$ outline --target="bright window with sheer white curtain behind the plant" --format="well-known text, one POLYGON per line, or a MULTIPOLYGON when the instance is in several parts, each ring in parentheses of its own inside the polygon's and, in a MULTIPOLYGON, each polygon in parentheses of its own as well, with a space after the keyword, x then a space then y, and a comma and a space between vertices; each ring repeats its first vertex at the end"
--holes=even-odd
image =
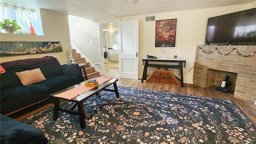
MULTIPOLYGON (((22 28, 17 30, 16 34, 30 34, 30 22, 36 35, 43 35, 41 20, 37 20, 36 12, 28 8, 22 8, 11 4, 0 3, 0 21, 9 18, 16 20, 16 23, 22 28), (40 22, 39 22, 40 21, 40 22)), ((39 14, 40 15, 40 14, 39 14)), ((40 18, 39 18, 40 19, 40 18)))

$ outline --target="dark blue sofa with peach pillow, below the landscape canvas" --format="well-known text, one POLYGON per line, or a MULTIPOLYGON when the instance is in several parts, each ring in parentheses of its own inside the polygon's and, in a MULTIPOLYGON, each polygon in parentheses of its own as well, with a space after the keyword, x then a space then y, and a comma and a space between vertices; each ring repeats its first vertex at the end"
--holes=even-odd
POLYGON ((60 65, 52 56, 15 60, 0 65, 6 71, 0 74, 1 114, 8 114, 45 100, 49 98, 49 94, 84 81, 78 64, 60 65), (38 81, 40 77, 46 79, 38 81), (30 79, 36 82, 30 82, 30 79))

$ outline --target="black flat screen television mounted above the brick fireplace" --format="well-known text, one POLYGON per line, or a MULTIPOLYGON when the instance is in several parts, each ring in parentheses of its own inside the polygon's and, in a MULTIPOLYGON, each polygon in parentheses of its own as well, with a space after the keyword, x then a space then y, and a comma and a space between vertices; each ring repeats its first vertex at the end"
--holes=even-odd
POLYGON ((208 18, 205 42, 256 42, 256 8, 208 18))

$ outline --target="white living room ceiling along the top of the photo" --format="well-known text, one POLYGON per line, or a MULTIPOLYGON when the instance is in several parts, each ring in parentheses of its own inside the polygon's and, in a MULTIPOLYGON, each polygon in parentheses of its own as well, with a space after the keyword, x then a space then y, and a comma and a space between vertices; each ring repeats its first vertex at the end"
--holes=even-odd
MULTIPOLYGON (((150 15, 238 4, 250 4, 255 0, 1 0, 25 8, 43 8, 88 20, 100 20, 123 16, 150 15)), ((107 26, 108 27, 108 26, 107 26)))

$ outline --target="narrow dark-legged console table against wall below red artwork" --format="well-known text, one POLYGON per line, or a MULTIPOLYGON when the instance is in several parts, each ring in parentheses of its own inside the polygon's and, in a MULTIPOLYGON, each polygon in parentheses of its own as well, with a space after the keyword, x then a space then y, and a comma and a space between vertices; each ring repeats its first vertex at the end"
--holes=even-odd
POLYGON ((180 69, 181 78, 178 78, 177 76, 176 76, 176 78, 178 80, 180 80, 181 86, 184 87, 184 83, 183 83, 183 62, 184 62, 184 66, 185 66, 185 64, 186 64, 185 59, 142 58, 142 65, 144 65, 144 70, 143 70, 143 75, 142 75, 141 82, 143 83, 144 80, 146 80, 146 78, 148 77, 147 76, 148 67, 166 68, 166 70, 168 70, 168 68, 178 68, 178 69, 180 69), (148 62, 162 62, 164 64, 149 64, 148 62), (175 63, 178 63, 178 65, 166 64, 166 62, 175 62, 175 63))

